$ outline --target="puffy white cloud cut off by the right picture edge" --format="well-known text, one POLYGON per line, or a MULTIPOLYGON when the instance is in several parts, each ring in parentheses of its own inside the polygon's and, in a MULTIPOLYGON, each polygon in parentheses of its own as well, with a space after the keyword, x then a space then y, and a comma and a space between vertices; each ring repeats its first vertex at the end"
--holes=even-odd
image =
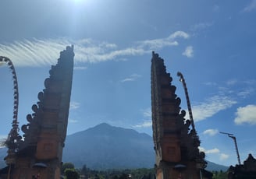
POLYGON ((247 105, 246 107, 238 107, 236 110, 236 125, 244 123, 256 125, 256 105, 247 105))

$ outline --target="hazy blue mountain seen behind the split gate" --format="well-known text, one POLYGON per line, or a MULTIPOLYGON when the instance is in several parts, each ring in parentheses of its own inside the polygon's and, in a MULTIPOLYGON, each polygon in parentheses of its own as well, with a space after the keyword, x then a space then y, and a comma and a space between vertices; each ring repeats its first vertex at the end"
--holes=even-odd
MULTIPOLYGON (((84 164, 91 169, 153 168, 155 151, 150 135, 133 129, 118 128, 106 123, 66 138, 63 162, 75 167, 84 164)), ((227 170, 227 167, 208 162, 208 170, 227 170)))

